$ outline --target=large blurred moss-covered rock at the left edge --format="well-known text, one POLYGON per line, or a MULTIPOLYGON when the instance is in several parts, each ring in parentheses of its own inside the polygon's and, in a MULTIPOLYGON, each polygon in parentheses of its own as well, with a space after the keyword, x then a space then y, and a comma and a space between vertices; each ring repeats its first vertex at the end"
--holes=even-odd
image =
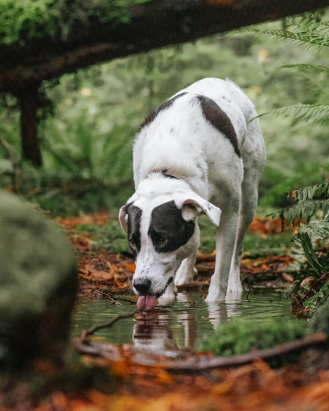
POLYGON ((0 227, 0 368, 59 360, 77 289, 72 247, 54 222, 1 191, 0 227))

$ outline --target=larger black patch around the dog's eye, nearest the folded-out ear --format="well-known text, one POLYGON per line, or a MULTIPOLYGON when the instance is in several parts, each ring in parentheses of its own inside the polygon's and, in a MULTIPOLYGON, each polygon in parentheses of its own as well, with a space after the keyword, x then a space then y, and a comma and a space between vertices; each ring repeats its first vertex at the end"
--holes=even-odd
POLYGON ((194 222, 185 221, 175 202, 168 201, 153 209, 148 236, 158 252, 172 252, 190 240, 194 229, 194 222), (165 245, 160 244, 162 238, 167 239, 165 245))

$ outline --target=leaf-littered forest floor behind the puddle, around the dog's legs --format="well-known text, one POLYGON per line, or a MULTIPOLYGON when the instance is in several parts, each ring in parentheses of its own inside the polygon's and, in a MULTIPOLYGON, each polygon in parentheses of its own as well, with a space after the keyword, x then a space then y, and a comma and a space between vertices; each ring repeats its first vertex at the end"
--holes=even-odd
MULTIPOLYGON (((69 217, 56 219, 67 231, 72 244, 79 253, 79 293, 77 301, 88 298, 94 290, 93 287, 104 293, 124 294, 134 301, 132 293, 132 275, 134 273, 134 256, 128 251, 125 233, 120 229, 116 219, 112 219, 107 212, 83 215, 81 217, 69 217), (111 223, 107 226, 108 223, 111 223), (113 230, 114 235, 109 233, 113 230), (110 241, 108 240, 110 237, 110 241), (113 243, 118 242, 114 246, 113 243), (118 249, 124 244, 124 249, 118 249), (114 252, 113 252, 114 251, 114 252)), ((271 236, 280 238, 280 219, 260 219, 256 217, 250 226, 254 236, 260 239, 270 239, 271 236)), ((285 242, 287 235, 283 235, 281 242, 285 242)), ((278 240, 276 239, 276 242, 278 240)), ((204 247, 205 248, 205 247, 204 247)), ((209 246, 206 246, 206 249, 209 246)), ((278 247, 262 252, 246 251, 241 261, 241 278, 243 285, 248 290, 249 286, 258 289, 289 289, 293 282, 292 275, 287 272, 287 267, 294 263, 295 259, 285 254, 284 248, 278 252, 278 247), (271 254, 272 251, 272 254, 271 254), (258 254, 258 255, 257 255, 258 254)), ((200 252, 197 255, 197 275, 191 284, 178 287, 178 291, 206 291, 213 270, 215 268, 215 252, 210 246, 208 253, 200 252)), ((98 298, 106 298, 100 294, 98 298)))

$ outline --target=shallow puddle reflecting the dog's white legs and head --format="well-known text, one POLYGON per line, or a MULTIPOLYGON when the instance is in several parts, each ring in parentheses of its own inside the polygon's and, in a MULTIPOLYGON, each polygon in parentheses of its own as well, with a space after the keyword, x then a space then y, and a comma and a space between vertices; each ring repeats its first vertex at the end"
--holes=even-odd
MULTIPOLYGON (((179 293, 176 301, 159 304, 153 311, 138 314, 137 318, 120 319, 110 328, 95 332, 95 337, 100 342, 115 344, 133 342, 138 350, 175 356, 181 349, 197 348, 214 328, 234 316, 241 316, 246 321, 264 322, 273 318, 297 321, 286 293, 254 290, 248 298, 212 304, 206 303, 204 297, 200 293, 179 293)), ((135 305, 114 307, 106 300, 80 303, 74 307, 72 336, 79 337, 82 330, 133 309, 135 305)))

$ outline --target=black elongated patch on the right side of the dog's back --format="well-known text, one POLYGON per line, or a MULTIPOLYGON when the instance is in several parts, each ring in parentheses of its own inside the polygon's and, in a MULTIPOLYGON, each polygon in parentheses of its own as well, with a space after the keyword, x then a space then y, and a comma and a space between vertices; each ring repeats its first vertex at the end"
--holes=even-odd
POLYGON ((218 104, 216 104, 212 99, 209 99, 203 95, 198 95, 197 99, 201 104, 204 118, 209 121, 216 130, 225 135, 225 137, 233 145, 236 155, 241 157, 236 132, 227 114, 222 111, 218 104))

